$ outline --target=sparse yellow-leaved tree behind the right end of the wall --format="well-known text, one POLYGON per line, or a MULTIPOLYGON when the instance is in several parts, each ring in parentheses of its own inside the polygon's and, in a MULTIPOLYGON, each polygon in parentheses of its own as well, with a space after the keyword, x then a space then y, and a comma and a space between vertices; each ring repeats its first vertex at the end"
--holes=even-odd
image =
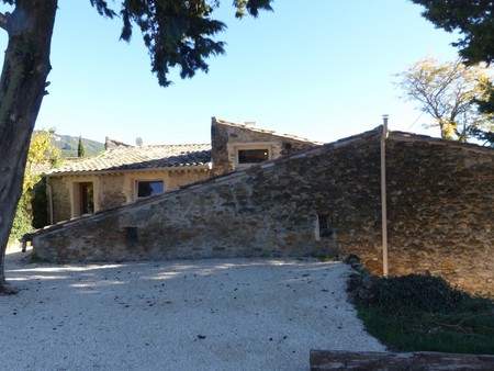
POLYGON ((467 66, 460 59, 440 64, 436 58, 416 61, 397 74, 404 99, 418 102, 446 139, 467 142, 478 131, 489 130, 492 115, 479 112, 475 100, 489 94, 491 80, 485 68, 467 66))

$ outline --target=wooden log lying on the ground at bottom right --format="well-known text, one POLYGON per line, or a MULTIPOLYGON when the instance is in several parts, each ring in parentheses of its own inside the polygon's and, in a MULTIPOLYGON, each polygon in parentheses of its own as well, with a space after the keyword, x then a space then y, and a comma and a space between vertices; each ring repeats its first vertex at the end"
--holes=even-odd
POLYGON ((311 350, 311 371, 494 370, 494 356, 429 351, 409 353, 311 350))

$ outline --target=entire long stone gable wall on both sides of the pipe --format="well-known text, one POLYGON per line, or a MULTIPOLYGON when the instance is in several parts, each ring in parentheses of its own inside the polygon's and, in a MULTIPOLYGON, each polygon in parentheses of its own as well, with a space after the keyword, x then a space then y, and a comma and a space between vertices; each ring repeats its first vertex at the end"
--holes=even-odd
MULTIPOLYGON (((52 261, 358 255, 382 272, 380 130, 34 236, 52 261)), ((494 150, 391 134, 391 274, 494 296, 494 150)))

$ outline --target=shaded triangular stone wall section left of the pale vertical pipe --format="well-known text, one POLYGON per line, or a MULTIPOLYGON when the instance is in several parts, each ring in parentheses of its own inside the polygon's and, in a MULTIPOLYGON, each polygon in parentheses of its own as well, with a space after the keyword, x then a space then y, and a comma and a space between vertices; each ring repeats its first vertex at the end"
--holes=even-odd
POLYGON ((59 262, 330 255, 357 243, 375 249, 378 195, 371 133, 59 225, 34 246, 59 262))

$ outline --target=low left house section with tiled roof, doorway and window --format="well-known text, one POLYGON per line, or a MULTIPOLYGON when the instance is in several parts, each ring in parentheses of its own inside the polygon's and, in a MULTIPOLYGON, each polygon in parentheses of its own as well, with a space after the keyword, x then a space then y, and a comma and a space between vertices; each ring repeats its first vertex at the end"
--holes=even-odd
POLYGON ((52 224, 210 177, 211 145, 119 146, 44 173, 52 224))

